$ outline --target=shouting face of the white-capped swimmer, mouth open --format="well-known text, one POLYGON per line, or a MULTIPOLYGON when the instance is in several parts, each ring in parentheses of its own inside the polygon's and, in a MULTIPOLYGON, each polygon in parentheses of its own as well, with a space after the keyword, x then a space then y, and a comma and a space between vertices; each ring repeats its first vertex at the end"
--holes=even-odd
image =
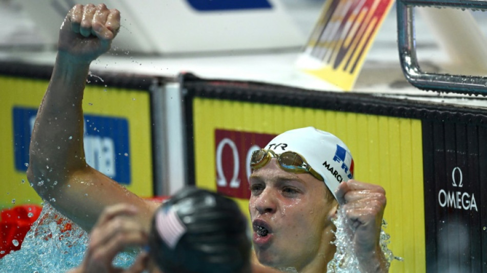
POLYGON ((286 172, 273 158, 250 176, 250 189, 253 243, 260 263, 299 271, 323 259, 327 247, 322 245, 330 246, 333 240, 330 218, 336 202, 322 181, 286 172))

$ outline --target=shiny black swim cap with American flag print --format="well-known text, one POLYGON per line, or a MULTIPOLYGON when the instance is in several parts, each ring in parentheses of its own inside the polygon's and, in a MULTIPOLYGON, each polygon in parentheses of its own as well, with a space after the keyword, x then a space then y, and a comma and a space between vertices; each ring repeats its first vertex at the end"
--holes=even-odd
POLYGON ((226 197, 184 188, 156 211, 150 255, 165 273, 239 273, 250 268, 247 220, 226 197))

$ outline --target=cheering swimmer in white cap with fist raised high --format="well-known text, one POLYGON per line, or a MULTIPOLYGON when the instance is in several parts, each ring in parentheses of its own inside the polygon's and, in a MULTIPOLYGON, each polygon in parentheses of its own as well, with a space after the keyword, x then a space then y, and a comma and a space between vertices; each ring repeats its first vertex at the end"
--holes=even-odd
MULTIPOLYGON (((82 100, 89 66, 110 49, 119 27, 118 10, 103 4, 76 5, 67 14, 51 81, 34 123, 27 176, 39 196, 55 198, 52 205, 85 230, 93 228, 106 207, 129 203, 138 212, 133 217, 149 233, 159 204, 87 165, 83 149, 82 100)), ((388 271, 379 247, 386 202, 383 188, 351 179, 351 155, 340 140, 322 139, 323 133, 316 130, 310 138, 302 134, 308 131, 297 132, 301 133, 279 135, 252 158, 249 211, 254 266, 326 272, 335 253, 331 219, 342 207, 362 271, 388 271), (348 165, 334 165, 338 162, 348 165)))

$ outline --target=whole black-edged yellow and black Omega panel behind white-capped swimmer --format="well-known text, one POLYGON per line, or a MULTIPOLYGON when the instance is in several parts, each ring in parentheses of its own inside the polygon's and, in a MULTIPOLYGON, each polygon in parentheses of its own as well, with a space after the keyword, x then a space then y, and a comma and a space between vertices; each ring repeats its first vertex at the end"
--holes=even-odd
POLYGON ((385 232, 404 259, 391 272, 487 269, 482 111, 192 75, 183 85, 190 184, 234 198, 248 215, 250 152, 314 126, 348 145, 357 180, 385 188, 385 232))

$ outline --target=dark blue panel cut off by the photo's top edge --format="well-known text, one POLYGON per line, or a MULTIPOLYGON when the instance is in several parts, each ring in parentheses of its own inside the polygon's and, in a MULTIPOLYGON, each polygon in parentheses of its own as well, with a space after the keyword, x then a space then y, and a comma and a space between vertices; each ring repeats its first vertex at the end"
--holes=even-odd
POLYGON ((187 0, 197 11, 272 9, 267 0, 187 0))

